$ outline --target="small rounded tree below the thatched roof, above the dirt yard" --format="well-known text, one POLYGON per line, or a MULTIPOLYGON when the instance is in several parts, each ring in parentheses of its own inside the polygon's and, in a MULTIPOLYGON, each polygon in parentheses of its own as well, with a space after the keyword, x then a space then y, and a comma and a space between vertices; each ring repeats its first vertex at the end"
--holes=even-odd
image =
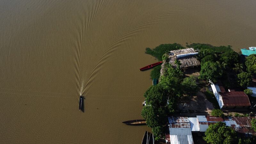
POLYGON ((187 94, 194 94, 197 92, 198 85, 196 84, 196 77, 190 76, 183 79, 181 83, 182 89, 187 94))

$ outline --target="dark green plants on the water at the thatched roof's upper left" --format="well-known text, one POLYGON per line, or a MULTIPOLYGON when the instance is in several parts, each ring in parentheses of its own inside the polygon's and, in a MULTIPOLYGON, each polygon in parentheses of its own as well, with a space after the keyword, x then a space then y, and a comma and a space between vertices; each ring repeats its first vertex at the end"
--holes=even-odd
POLYGON ((160 44, 154 49, 146 48, 146 53, 156 57, 159 61, 162 61, 162 56, 169 51, 184 49, 180 44, 160 44))

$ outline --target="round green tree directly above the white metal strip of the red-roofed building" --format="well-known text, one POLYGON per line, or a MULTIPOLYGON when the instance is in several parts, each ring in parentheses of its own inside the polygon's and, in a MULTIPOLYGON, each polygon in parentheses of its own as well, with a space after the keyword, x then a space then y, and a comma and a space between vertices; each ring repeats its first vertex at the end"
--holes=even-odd
POLYGON ((216 62, 207 61, 201 66, 199 78, 205 80, 211 80, 213 83, 217 82, 217 79, 222 75, 222 70, 216 62))

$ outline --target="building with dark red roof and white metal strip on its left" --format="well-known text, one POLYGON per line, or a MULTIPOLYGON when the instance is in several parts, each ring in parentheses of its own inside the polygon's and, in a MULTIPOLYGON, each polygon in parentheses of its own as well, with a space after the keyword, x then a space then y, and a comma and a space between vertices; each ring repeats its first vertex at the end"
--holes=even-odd
POLYGON ((250 108, 250 100, 244 92, 236 92, 233 90, 226 92, 222 86, 220 87, 218 84, 213 83, 211 87, 221 110, 237 111, 250 108))

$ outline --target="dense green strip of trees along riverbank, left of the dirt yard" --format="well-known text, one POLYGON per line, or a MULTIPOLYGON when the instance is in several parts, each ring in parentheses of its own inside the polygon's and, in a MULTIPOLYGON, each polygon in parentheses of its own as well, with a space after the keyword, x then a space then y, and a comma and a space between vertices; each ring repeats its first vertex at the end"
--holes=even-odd
POLYGON ((166 74, 160 77, 159 84, 150 86, 144 93, 147 105, 143 107, 141 115, 152 128, 155 140, 164 136, 163 127, 168 122, 167 115, 174 112, 175 101, 183 95, 182 79, 183 72, 179 64, 176 68, 170 66, 166 74))

